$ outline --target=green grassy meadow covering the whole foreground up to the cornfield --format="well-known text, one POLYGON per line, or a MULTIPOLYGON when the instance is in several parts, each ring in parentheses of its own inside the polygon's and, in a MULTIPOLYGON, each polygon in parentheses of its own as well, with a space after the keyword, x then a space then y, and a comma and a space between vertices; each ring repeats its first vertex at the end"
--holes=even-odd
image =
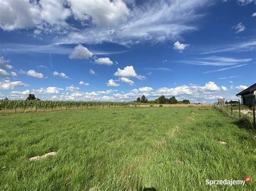
POLYGON ((215 109, 37 112, 0 122, 1 190, 255 190, 255 133, 215 109), (29 161, 48 152, 58 154, 29 161), (247 175, 245 187, 206 185, 247 175))

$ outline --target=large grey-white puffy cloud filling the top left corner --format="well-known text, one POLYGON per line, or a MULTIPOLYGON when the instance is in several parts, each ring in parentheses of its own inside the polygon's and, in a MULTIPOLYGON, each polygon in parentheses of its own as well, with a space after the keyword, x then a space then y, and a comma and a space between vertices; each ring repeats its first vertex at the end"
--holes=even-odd
POLYGON ((68 27, 65 22, 71 10, 65 8, 64 0, 2 0, 0 1, 0 27, 6 31, 35 28, 42 31, 59 31, 68 27))

